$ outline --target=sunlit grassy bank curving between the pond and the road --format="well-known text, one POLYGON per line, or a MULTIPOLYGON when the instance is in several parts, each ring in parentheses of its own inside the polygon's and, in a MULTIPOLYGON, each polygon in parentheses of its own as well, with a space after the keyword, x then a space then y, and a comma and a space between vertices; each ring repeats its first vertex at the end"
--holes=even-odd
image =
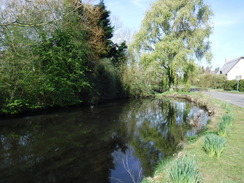
MULTIPOLYGON (((244 182, 244 109, 226 104, 220 100, 210 98, 199 93, 181 93, 172 94, 168 93, 170 97, 188 98, 200 105, 207 105, 208 110, 212 111, 211 121, 207 126, 207 131, 200 135, 196 141, 188 141, 185 148, 172 157, 171 160, 162 162, 156 168, 153 177, 145 178, 144 183, 162 183, 173 182, 172 170, 179 168, 179 166, 186 168, 187 171, 195 166, 197 170, 187 172, 191 175, 195 171, 195 175, 199 172, 200 182, 211 183, 231 183, 231 182, 244 182), (220 157, 210 157, 203 149, 203 144, 208 134, 218 134, 219 124, 223 121, 224 115, 233 115, 233 125, 228 126, 227 133, 224 138, 226 140, 225 147, 220 157), (179 165, 179 160, 184 160, 187 156, 195 162, 186 163, 187 166, 179 165), (190 168, 189 168, 190 167, 190 168)), ((159 95, 159 98, 166 97, 159 95)), ((185 160, 184 160, 185 161, 185 160)), ((197 175, 198 176, 198 175, 197 175)), ((194 176, 192 176, 194 177, 194 176)), ((184 182, 184 181, 180 181, 184 182)), ((187 181, 185 181, 187 182, 187 181)), ((197 182, 197 181, 190 181, 197 182)))

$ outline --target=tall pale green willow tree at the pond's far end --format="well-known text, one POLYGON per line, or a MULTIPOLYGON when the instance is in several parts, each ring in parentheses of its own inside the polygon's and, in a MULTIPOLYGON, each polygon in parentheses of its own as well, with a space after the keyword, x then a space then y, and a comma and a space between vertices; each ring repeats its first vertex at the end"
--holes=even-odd
POLYGON ((173 88, 187 79, 195 61, 211 60, 212 11, 203 0, 158 0, 146 13, 132 47, 143 67, 155 68, 173 88))

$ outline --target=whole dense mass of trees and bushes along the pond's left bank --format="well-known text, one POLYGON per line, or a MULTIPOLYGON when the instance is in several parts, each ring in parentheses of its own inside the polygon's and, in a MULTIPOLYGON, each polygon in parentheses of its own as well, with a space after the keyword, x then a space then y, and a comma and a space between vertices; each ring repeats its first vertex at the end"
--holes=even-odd
MULTIPOLYGON (((45 3, 13 4, 25 12, 19 15, 21 21, 31 23, 0 27, 1 112, 16 114, 122 96, 120 65, 127 46, 111 42, 113 27, 104 3, 52 1, 44 11, 45 3), (36 15, 50 22, 40 23, 36 15), (99 61, 102 53, 106 62, 99 61)), ((10 10, 9 16, 14 19, 18 13, 10 10)))

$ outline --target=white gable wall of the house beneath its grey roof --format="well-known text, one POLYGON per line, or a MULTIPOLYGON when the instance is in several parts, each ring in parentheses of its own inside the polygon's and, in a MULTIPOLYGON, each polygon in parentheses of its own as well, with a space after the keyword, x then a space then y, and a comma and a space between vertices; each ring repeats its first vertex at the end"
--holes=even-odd
POLYGON ((235 80, 236 76, 244 79, 244 59, 241 59, 227 74, 228 80, 235 80))

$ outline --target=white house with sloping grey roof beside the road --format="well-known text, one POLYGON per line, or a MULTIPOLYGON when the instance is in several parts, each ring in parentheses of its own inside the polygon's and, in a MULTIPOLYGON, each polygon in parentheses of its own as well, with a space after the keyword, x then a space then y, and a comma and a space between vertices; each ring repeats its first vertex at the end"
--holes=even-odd
POLYGON ((244 57, 225 61, 218 73, 226 75, 227 80, 244 79, 244 57))

